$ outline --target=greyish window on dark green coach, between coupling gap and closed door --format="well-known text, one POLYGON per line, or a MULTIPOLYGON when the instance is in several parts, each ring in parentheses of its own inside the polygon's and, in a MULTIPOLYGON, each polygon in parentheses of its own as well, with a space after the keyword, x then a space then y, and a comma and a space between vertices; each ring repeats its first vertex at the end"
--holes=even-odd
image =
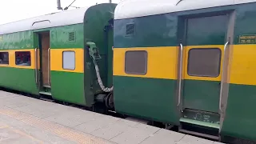
POLYGON ((126 74, 144 75, 147 71, 147 51, 126 51, 125 72, 126 74))

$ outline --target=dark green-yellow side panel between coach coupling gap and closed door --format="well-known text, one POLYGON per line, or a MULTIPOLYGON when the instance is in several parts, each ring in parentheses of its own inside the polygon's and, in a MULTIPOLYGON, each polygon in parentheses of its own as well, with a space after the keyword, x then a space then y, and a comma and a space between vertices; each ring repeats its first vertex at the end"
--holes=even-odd
POLYGON ((178 125, 178 18, 114 21, 114 105, 119 113, 178 125))

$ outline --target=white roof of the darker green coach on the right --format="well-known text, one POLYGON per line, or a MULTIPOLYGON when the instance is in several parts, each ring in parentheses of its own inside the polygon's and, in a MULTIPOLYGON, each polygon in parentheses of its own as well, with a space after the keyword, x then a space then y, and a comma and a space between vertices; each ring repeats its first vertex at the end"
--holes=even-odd
POLYGON ((114 19, 136 18, 249 2, 256 2, 256 0, 124 0, 116 7, 114 19))

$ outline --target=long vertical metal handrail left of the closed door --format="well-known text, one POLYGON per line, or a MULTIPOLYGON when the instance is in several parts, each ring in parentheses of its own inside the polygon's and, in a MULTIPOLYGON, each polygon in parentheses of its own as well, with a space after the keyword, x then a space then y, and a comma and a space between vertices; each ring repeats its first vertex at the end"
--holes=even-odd
POLYGON ((182 59, 183 59, 183 46, 182 43, 180 44, 180 48, 181 48, 181 54, 180 54, 180 58, 179 58, 179 82, 178 82, 178 105, 181 103, 181 94, 182 94, 182 59))

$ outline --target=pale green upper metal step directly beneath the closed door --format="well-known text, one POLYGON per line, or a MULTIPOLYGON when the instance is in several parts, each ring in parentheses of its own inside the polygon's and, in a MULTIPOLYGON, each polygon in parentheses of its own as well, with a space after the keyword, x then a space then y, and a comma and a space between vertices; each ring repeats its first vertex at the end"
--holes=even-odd
POLYGON ((190 123, 190 124, 197 125, 197 126, 205 126, 205 127, 210 127, 210 128, 214 128, 214 129, 220 129, 220 126, 217 123, 202 122, 202 121, 197 121, 197 120, 189 119, 189 118, 180 118, 179 121, 190 123))

